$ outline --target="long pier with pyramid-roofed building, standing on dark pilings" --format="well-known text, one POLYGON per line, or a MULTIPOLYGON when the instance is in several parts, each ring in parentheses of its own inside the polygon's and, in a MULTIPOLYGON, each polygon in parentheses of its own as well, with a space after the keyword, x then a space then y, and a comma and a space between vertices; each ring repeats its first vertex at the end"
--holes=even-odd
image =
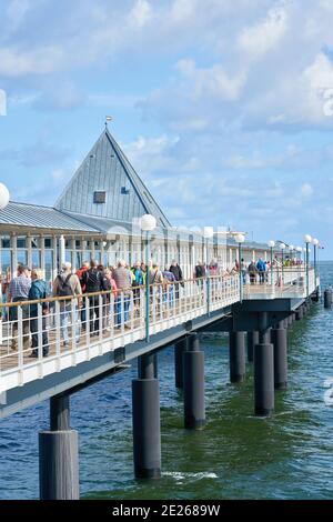
POLYGON ((274 414, 275 393, 287 389, 286 330, 319 300, 311 237, 304 250, 246 241, 223 228, 172 228, 108 128, 53 208, 7 203, 0 210, 0 263, 8 281, 20 265, 39 269, 50 288, 65 263, 75 272, 90 260, 113 269, 145 260, 147 269, 135 288, 0 303, 0 418, 50 402, 49 429, 39 432, 41 499, 80 495, 71 395, 135 363, 133 474, 160 478, 159 352, 174 347, 183 428, 204 430, 202 333, 229 334, 230 382, 241 385, 246 360, 253 363, 249 413, 274 414), (199 260, 202 275, 195 273, 199 260), (256 260, 264 270, 250 269, 256 260), (150 281, 154 264, 170 263, 181 267, 179 280, 150 281))

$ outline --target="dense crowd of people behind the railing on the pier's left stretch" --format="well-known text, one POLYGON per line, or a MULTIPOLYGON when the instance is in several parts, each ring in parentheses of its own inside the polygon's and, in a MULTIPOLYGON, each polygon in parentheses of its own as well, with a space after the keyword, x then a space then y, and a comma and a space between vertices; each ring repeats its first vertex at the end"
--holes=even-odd
POLYGON ((129 267, 125 261, 121 260, 117 267, 108 268, 91 260, 84 262, 75 272, 70 262, 64 262, 52 282, 52 288, 43 280, 41 270, 30 270, 28 267, 19 265, 17 275, 8 282, 4 289, 7 303, 23 303, 20 307, 22 332, 18 331, 18 307, 8 307, 8 319, 12 324, 11 348, 18 349, 19 333, 21 333, 23 349, 29 349, 31 340, 30 357, 37 358, 41 324, 42 353, 43 357, 49 354, 47 317, 50 309, 54 307, 54 301, 48 300, 51 297, 60 298, 60 332, 63 347, 69 345, 70 342, 69 323, 75 325, 77 342, 80 340, 81 329, 89 328, 91 335, 99 335, 101 322, 103 329, 110 328, 112 314, 115 329, 120 329, 122 324, 124 328, 130 328, 131 298, 134 308, 139 309, 141 288, 147 284, 147 278, 150 284, 150 299, 153 298, 153 289, 158 288, 159 299, 161 298, 168 307, 172 307, 174 299, 179 299, 180 287, 184 284, 182 269, 175 260, 172 260, 170 267, 165 267, 164 270, 160 270, 157 263, 147 267, 143 262, 137 262, 133 267, 129 267), (100 295, 102 295, 102 308, 100 295), (71 298, 77 298, 78 307, 72 307, 71 298), (87 307, 87 300, 89 307, 87 307), (24 301, 32 302, 24 305, 24 301), (41 314, 39 307, 41 307, 41 314))

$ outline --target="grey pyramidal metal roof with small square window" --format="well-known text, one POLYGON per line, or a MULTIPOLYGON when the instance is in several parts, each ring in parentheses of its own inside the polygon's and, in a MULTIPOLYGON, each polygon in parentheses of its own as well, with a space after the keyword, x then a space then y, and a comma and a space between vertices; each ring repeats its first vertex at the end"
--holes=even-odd
POLYGON ((54 207, 63 212, 119 221, 132 221, 149 213, 154 215, 159 227, 171 227, 108 128, 54 207))

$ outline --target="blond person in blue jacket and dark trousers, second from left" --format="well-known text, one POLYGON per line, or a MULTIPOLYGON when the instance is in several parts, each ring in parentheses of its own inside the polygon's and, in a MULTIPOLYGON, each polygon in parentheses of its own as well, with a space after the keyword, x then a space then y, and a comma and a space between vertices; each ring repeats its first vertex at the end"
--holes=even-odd
MULTIPOLYGON (((32 269, 31 271, 31 287, 29 290, 29 301, 36 301, 40 299, 47 299, 50 295, 50 288, 48 283, 43 280, 42 271, 39 269, 32 269)), ((38 303, 31 303, 29 305, 30 310, 30 332, 32 341, 32 352, 29 357, 38 358, 38 339, 39 339, 39 305, 38 303)), ((42 354, 47 357, 49 354, 49 339, 47 332, 47 314, 49 313, 49 303, 40 303, 41 309, 41 340, 42 340, 42 354)))

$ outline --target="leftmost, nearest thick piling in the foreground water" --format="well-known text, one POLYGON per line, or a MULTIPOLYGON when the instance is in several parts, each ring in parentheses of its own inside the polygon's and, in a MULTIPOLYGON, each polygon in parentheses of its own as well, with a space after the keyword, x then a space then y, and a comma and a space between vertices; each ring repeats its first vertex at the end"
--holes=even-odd
POLYGON ((70 429, 69 395, 50 400, 50 431, 39 433, 41 500, 78 500, 78 432, 70 429))

